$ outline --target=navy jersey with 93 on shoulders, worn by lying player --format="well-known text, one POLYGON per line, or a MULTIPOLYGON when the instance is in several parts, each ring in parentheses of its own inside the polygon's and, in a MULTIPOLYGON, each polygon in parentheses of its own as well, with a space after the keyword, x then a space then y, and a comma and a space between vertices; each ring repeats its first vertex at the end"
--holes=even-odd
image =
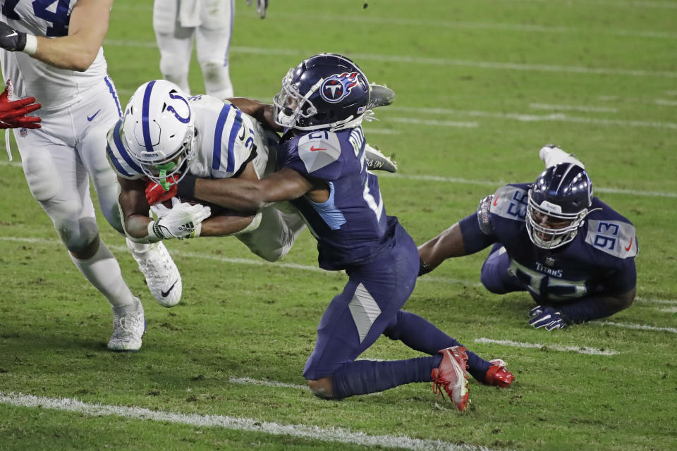
POLYGON ((525 226, 529 187, 522 183, 496 190, 488 222, 486 210, 485 216, 478 213, 474 221, 462 221, 464 241, 475 237, 484 245, 503 245, 511 271, 539 302, 617 294, 635 286, 638 244, 628 219, 593 197, 592 212, 574 240, 556 249, 541 249, 531 242, 525 226))

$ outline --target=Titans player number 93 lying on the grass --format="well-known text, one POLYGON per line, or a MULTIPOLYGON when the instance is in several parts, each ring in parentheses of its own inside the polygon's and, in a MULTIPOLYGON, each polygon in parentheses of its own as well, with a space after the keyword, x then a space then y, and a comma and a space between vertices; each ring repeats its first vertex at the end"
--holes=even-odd
POLYGON ((540 155, 549 167, 535 183, 499 188, 477 213, 421 245, 420 273, 493 245, 482 284, 496 294, 529 292, 537 303, 529 312, 535 328, 564 328, 630 307, 635 227, 592 196, 578 159, 551 144, 540 155))

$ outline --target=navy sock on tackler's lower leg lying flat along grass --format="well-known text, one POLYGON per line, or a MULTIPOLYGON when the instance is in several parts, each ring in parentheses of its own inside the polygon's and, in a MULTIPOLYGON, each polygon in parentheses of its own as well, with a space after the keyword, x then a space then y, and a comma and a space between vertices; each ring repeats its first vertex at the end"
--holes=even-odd
POLYGON ((374 362, 356 360, 343 364, 332 375, 335 399, 366 395, 412 382, 431 381, 430 373, 439 366, 442 355, 417 357, 416 359, 374 362))

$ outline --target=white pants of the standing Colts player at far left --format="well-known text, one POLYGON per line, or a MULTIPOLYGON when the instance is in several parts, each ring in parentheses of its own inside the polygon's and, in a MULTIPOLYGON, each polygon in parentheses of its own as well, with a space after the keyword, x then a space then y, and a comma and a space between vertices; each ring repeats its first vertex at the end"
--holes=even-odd
POLYGON ((98 235, 89 180, 106 220, 124 233, 116 176, 106 159, 106 133, 122 114, 109 77, 89 89, 87 100, 54 112, 39 111, 42 128, 15 129, 30 193, 47 212, 71 252, 98 235))

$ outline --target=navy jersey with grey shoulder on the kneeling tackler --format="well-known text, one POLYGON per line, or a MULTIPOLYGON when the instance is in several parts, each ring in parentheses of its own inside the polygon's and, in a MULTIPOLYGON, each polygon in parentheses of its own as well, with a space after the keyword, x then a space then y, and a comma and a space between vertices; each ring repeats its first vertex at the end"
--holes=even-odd
POLYGON ((317 239, 321 268, 364 264, 392 245, 397 218, 386 217, 378 178, 367 171, 362 127, 283 136, 278 164, 329 185, 327 202, 292 201, 317 239))

